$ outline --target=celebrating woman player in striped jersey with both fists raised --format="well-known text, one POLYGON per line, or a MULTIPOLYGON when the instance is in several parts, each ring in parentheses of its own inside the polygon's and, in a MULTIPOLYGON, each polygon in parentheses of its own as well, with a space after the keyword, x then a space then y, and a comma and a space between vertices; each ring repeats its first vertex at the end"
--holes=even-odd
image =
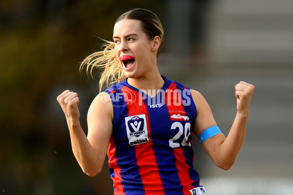
POLYGON ((115 22, 114 42, 84 59, 81 68, 89 73, 104 68, 100 91, 104 83, 113 84, 93 100, 87 136, 77 93, 66 90, 57 98, 82 170, 95 176, 107 155, 115 195, 202 195, 191 135, 224 170, 233 165, 244 141, 254 86, 235 85, 237 114, 226 138, 199 92, 160 75, 163 36, 154 13, 132 9, 115 22))

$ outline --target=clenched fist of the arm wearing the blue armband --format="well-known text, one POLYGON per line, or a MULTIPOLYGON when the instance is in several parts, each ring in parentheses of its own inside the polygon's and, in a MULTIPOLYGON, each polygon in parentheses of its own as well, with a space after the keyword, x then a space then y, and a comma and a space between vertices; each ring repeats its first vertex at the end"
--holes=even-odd
POLYGON ((237 111, 243 114, 249 114, 249 107, 251 103, 254 86, 240 81, 235 85, 235 96, 237 98, 237 111))

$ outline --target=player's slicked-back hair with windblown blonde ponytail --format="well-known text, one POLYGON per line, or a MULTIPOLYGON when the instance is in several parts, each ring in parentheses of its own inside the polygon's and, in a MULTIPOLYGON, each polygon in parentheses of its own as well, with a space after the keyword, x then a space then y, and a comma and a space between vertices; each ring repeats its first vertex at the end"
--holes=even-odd
MULTIPOLYGON (((124 19, 140 20, 142 29, 146 33, 148 39, 152 40, 154 37, 159 36, 162 42, 164 30, 160 19, 153 12, 142 8, 131 9, 119 16, 115 23, 124 19)), ((86 67, 86 74, 91 78, 93 78, 93 69, 104 69, 99 82, 100 92, 104 83, 106 83, 106 86, 108 87, 109 85, 121 82, 126 78, 122 64, 114 51, 115 43, 113 41, 104 41, 104 51, 95 52, 89 55, 84 59, 80 66, 80 71, 86 67)), ((157 57, 159 56, 159 53, 160 48, 157 57)))

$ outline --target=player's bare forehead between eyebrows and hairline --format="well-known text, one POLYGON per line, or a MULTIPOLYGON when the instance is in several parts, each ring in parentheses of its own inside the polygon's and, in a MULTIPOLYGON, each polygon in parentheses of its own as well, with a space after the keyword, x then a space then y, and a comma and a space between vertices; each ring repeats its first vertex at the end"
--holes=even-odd
POLYGON ((113 37, 122 37, 126 36, 127 34, 140 33, 142 33, 141 21, 124 19, 115 23, 113 37))

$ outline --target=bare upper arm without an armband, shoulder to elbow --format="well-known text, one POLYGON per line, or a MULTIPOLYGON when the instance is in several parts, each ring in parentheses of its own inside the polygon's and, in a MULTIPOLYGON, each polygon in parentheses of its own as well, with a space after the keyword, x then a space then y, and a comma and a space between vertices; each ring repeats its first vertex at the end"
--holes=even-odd
POLYGON ((112 134, 113 108, 105 104, 105 93, 99 94, 92 102, 87 115, 87 139, 99 156, 105 159, 112 134))

